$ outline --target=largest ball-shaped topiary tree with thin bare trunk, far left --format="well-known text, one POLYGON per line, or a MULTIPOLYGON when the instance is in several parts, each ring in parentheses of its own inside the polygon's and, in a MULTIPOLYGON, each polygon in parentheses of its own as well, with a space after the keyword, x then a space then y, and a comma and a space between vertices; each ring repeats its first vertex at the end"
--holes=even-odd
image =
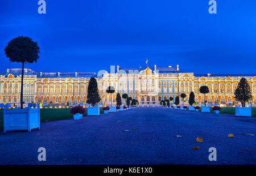
POLYGON ((32 41, 30 37, 19 36, 9 41, 5 48, 6 57, 11 62, 22 63, 22 80, 20 88, 20 109, 23 109, 23 77, 24 63, 33 63, 38 61, 40 49, 38 42, 32 41))

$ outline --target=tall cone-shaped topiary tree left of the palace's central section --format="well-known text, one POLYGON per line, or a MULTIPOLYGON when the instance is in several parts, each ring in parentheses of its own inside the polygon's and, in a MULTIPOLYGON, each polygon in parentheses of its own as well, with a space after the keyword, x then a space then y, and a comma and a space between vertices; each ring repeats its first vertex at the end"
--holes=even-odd
POLYGON ((87 100, 86 103, 95 106, 101 101, 100 95, 98 95, 98 84, 96 78, 90 78, 88 89, 87 89, 87 100))

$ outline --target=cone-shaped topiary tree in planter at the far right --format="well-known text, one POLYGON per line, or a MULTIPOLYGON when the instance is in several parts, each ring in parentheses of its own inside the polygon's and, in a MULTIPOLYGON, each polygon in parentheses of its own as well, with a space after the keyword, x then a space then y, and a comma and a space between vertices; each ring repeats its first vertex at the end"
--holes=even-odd
POLYGON ((242 106, 245 107, 246 101, 251 100, 250 84, 245 78, 241 78, 236 91, 234 92, 236 101, 240 101, 242 106))

